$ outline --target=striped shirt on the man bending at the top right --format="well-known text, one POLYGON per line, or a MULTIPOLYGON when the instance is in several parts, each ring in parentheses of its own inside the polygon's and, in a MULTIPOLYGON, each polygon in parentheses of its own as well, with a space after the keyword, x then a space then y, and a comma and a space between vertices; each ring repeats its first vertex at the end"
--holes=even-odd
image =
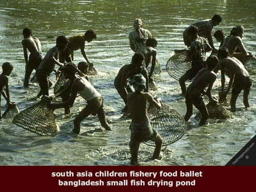
POLYGON ((202 21, 196 22, 196 23, 188 26, 184 30, 183 36, 188 37, 188 29, 193 25, 197 26, 197 28, 198 28, 198 36, 207 38, 210 46, 212 47, 212 49, 214 49, 214 44, 213 44, 213 40, 212 40, 212 28, 214 27, 214 25, 213 25, 212 20, 206 19, 206 20, 202 20, 202 21))

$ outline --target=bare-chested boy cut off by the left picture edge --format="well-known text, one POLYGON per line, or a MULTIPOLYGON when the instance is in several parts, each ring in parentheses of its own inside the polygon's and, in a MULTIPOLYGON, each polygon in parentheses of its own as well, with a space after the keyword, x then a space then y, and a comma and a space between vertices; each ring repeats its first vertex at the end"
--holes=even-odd
MULTIPOLYGON (((9 86, 8 86, 8 81, 9 78, 8 76, 11 74, 13 70, 12 64, 5 62, 2 64, 2 73, 0 74, 0 91, 3 97, 5 98, 8 108, 12 105, 12 102, 10 101, 10 93, 9 93, 9 86), (5 91, 4 91, 5 87, 5 91)), ((0 95, 0 119, 2 119, 2 113, 1 113, 1 95, 0 95)))

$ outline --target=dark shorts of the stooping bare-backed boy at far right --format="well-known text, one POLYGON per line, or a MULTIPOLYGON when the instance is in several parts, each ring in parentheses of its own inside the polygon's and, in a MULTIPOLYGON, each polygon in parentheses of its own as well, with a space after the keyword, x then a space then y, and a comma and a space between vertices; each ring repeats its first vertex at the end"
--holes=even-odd
POLYGON ((250 77, 243 76, 241 74, 235 74, 234 82, 233 82, 233 88, 232 88, 232 94, 238 95, 242 90, 244 92, 250 92, 252 87, 252 80, 250 77))

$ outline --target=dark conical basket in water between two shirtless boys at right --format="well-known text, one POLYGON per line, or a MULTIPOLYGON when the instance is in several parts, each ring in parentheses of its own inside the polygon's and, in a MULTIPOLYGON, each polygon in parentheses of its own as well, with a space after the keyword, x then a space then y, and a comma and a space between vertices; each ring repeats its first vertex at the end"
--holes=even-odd
MULTIPOLYGON (((207 120, 209 123, 221 123, 232 117, 231 113, 220 104, 213 104, 212 102, 209 102, 206 105, 206 108, 209 113, 209 118, 207 120)), ((195 119, 200 121, 201 118, 202 115, 200 112, 198 112, 195 116, 195 119)))

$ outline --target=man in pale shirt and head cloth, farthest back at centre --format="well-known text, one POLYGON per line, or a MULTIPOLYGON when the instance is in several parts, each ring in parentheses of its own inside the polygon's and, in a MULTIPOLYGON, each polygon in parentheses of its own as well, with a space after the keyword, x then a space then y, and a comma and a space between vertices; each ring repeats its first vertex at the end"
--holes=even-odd
POLYGON ((135 30, 133 30, 129 34, 129 43, 130 43, 130 48, 134 52, 136 52, 139 47, 146 46, 146 40, 148 38, 151 38, 152 35, 149 30, 141 28, 142 27, 141 19, 135 19, 133 22, 133 26, 135 30))

